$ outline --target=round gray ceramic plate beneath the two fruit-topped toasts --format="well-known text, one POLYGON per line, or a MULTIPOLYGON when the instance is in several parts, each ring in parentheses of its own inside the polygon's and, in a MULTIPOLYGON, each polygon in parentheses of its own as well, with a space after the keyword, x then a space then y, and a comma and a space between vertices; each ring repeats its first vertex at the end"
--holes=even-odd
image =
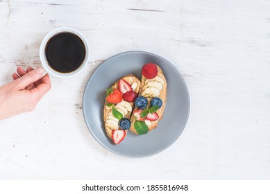
POLYGON ((168 148, 183 132, 189 116, 189 94, 185 80, 170 62, 153 53, 120 53, 101 64, 92 74, 83 96, 83 115, 90 132, 104 148, 125 157, 148 157, 168 148), (126 139, 115 145, 103 123, 106 89, 122 76, 133 73, 139 79, 144 64, 158 64, 167 79, 167 106, 158 127, 148 134, 128 131, 126 139))

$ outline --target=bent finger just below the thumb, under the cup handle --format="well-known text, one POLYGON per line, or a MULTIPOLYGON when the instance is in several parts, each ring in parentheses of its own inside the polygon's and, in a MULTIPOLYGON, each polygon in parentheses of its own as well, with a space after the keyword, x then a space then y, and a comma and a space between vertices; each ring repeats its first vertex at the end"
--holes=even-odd
POLYGON ((46 73, 46 75, 39 80, 39 85, 31 89, 31 92, 42 98, 42 96, 44 96, 44 94, 46 94, 50 89, 51 89, 51 80, 49 78, 49 74, 46 73))

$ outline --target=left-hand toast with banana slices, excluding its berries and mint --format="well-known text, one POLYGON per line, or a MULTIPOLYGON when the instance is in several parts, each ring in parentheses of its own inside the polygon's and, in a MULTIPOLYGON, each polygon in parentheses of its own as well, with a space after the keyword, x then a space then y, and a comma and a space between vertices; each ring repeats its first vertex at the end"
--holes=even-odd
MULTIPOLYGON (((141 89, 141 82, 136 76, 134 76, 133 74, 129 74, 127 76, 120 78, 119 80, 117 80, 117 82, 115 82, 112 85, 112 89, 119 89, 118 87, 119 87, 120 80, 125 80, 126 82, 128 82, 130 86, 132 87, 133 91, 135 91, 137 94, 139 93, 141 89)), ((114 115, 112 114, 112 107, 108 107, 108 104, 109 102, 108 100, 106 100, 104 104, 104 108, 103 108, 103 120, 104 120, 106 133, 108 134, 110 139, 112 139, 112 131, 120 130, 119 125, 118 125, 119 120, 114 117, 114 115)), ((121 103, 117 103, 115 105, 115 109, 121 112, 124 115, 124 117, 128 119, 130 119, 130 116, 133 112, 133 108, 134 108, 134 103, 128 103, 125 100, 122 100, 121 103)), ((127 130, 126 130, 126 134, 127 134, 127 130)))

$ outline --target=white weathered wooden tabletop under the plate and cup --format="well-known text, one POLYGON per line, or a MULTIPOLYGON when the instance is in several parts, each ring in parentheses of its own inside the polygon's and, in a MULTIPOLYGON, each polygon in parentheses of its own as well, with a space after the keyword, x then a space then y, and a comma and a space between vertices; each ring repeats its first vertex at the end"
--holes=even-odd
POLYGON ((270 1, 0 0, 0 85, 40 67, 42 38, 61 26, 85 35, 90 62, 0 121, 0 179, 270 179, 270 1), (174 64, 191 98, 180 138, 142 159, 99 145, 82 110, 94 69, 132 50, 174 64))

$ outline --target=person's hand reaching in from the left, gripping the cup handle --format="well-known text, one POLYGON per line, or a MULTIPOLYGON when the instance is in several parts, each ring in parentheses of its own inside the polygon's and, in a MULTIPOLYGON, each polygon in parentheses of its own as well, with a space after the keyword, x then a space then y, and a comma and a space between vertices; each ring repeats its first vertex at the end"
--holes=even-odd
POLYGON ((17 68, 17 73, 12 74, 14 81, 0 87, 0 120, 35 109, 51 89, 49 75, 42 77, 43 73, 44 69, 40 67, 28 67, 26 71, 22 67, 17 68))

